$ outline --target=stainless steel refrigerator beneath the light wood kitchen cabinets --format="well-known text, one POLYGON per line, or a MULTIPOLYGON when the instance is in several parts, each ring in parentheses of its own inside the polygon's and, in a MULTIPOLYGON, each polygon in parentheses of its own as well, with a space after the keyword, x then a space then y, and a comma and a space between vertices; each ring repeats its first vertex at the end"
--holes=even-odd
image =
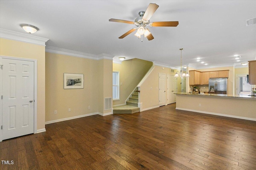
POLYGON ((210 78, 209 93, 227 94, 228 78, 210 78))

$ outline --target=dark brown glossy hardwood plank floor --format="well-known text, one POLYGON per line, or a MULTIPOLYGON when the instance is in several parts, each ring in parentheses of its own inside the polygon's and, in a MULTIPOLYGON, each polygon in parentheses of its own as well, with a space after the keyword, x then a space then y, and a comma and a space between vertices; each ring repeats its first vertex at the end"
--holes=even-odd
POLYGON ((255 121, 175 107, 46 125, 46 132, 0 142, 0 160, 9 160, 0 169, 256 169, 255 121))

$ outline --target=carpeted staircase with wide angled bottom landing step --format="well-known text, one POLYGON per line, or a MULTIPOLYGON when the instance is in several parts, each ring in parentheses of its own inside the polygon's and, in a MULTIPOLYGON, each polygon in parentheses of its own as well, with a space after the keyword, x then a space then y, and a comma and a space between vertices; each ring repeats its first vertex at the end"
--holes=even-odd
POLYGON ((140 112, 140 108, 138 107, 138 87, 132 94, 132 97, 129 97, 129 101, 126 101, 126 105, 113 107, 113 114, 132 114, 140 112))

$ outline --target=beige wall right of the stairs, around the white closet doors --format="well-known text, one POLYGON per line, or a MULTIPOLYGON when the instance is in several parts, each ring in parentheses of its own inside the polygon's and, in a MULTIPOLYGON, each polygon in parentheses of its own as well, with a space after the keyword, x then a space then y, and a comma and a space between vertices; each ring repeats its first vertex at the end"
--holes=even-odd
MULTIPOLYGON (((171 69, 167 67, 155 66, 148 78, 142 83, 140 86, 140 102, 142 103, 142 110, 154 108, 159 106, 159 73, 163 73, 167 75, 173 75, 176 73, 176 69, 174 73, 171 73, 171 69), (163 69, 164 68, 164 69, 163 69), (152 90, 151 90, 152 87, 152 90)), ((181 78, 178 77, 177 87, 178 92, 181 91, 181 78)), ((167 81, 166 85, 167 87, 167 81)), ((166 99, 167 101, 167 94, 166 99)))

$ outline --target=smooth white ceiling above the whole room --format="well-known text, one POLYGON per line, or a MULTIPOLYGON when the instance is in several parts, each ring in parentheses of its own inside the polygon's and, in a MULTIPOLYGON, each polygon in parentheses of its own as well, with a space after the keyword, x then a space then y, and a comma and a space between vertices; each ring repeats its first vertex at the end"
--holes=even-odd
MULTIPOLYGON (((256 57, 255 0, 1 0, 0 28, 25 33, 20 24, 40 30, 33 34, 50 39, 47 46, 126 59, 140 58, 180 67, 195 68, 234 65, 256 57), (150 22, 178 21, 177 27, 150 27, 154 40, 134 34, 118 39, 134 25, 109 22, 110 18, 134 21, 138 12, 156 3, 150 22), (236 62, 233 55, 241 55, 236 62), (208 65, 196 61, 201 61, 208 65)), ((135 33, 135 32, 134 32, 135 33)))

